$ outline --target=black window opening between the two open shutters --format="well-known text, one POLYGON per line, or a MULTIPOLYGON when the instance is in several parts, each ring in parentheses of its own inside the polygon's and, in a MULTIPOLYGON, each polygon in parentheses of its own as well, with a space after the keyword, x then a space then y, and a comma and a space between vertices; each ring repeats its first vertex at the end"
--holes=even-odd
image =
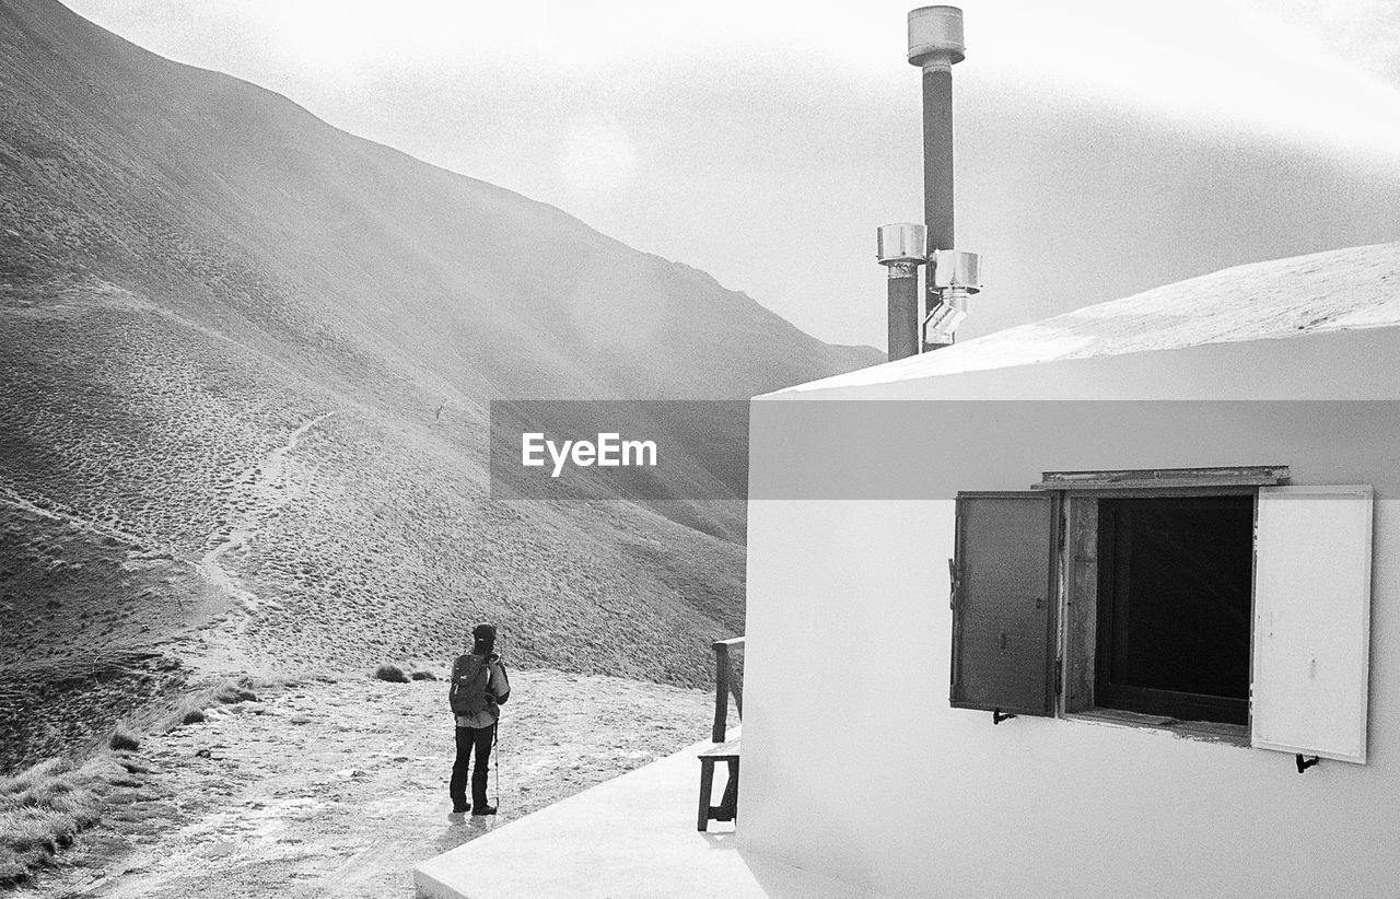
POLYGON ((1249 717, 1253 496, 1099 500, 1095 704, 1249 717))

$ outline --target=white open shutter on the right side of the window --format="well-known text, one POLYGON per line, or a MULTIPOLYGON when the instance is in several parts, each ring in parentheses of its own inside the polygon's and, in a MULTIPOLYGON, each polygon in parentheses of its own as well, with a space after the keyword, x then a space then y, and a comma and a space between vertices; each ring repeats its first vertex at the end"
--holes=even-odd
POLYGON ((1250 742, 1365 763, 1372 490, 1261 487, 1250 742))

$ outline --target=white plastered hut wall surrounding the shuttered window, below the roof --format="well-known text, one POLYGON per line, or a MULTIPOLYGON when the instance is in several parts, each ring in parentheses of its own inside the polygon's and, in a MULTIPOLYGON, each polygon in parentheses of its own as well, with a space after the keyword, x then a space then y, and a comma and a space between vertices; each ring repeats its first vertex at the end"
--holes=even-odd
MULTIPOLYGON (((1400 398, 1396 358, 1400 329, 1386 329, 795 398, 1400 398)), ((902 420, 883 447, 837 424, 794 451, 764 427, 766 407, 792 398, 755 402, 755 496, 805 457, 934 499, 750 501, 742 846, 890 895, 1400 892, 1400 420, 1218 423, 1141 440, 1081 431, 1008 447, 902 420), (910 441, 942 459, 946 479, 921 476, 910 441), (1228 450, 1211 457, 1212 445, 1228 450), (948 706, 948 485, 1023 490, 1042 471, 1225 464, 1376 486, 1365 766, 1324 760, 1299 776, 1284 753, 1058 718, 994 727, 988 713, 948 706)))

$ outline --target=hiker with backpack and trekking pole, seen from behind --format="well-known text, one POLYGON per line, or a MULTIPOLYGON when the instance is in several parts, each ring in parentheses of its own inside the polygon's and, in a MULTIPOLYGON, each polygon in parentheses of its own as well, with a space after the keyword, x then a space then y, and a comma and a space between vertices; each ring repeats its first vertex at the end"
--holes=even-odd
POLYGON ((456 760, 452 762, 452 780, 448 784, 452 814, 496 814, 496 807, 486 801, 486 784, 496 725, 501 718, 500 706, 510 696, 511 682, 496 653, 496 627, 477 625, 472 629, 472 651, 458 657, 452 665, 452 686, 448 688, 448 702, 456 720, 456 760), (468 770, 472 774, 470 805, 466 802, 468 770))

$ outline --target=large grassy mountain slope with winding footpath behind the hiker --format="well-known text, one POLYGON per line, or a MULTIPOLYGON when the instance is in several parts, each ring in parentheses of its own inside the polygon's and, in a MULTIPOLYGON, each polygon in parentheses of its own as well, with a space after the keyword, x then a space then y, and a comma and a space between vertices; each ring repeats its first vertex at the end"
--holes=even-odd
POLYGON ((53 0, 0 4, 0 767, 197 672, 442 660, 480 619, 525 667, 703 683, 742 504, 493 503, 487 402, 881 358, 53 0))

